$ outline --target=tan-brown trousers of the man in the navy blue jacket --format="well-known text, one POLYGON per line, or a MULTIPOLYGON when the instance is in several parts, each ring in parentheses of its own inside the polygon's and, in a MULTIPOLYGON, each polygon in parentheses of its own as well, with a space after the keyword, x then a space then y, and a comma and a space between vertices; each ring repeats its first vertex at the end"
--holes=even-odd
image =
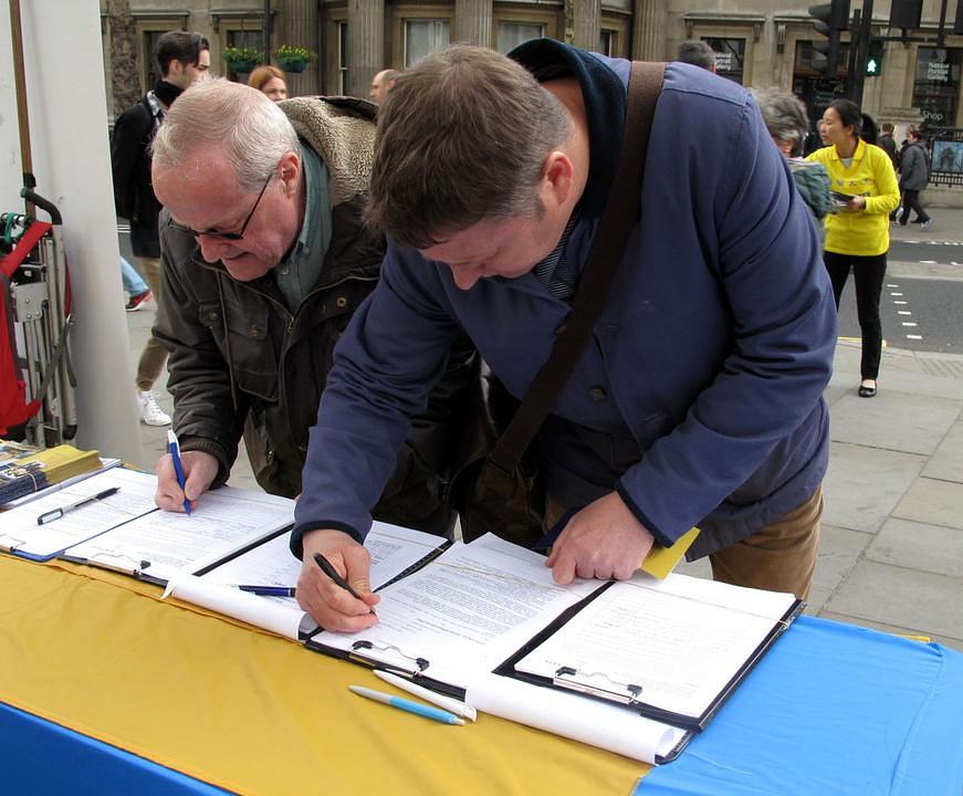
MULTIPOLYGON (((546 532, 565 513, 565 506, 548 498, 545 506, 546 532)), ((799 599, 809 596, 816 554, 819 548, 819 519, 823 516, 823 488, 803 505, 709 556, 712 578, 734 586, 768 591, 788 591, 799 599)))

